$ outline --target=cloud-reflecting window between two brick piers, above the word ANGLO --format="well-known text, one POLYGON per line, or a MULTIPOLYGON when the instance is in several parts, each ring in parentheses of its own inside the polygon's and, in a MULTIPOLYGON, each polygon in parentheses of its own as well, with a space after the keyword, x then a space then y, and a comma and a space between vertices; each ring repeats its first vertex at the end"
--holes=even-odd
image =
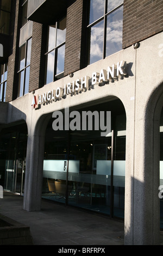
POLYGON ((64 75, 66 17, 48 27, 45 84, 64 75))

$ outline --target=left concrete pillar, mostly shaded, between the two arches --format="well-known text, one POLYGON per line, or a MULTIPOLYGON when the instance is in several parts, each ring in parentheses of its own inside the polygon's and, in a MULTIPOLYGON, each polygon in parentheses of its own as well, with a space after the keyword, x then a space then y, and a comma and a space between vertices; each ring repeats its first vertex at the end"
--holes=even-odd
POLYGON ((41 209, 45 131, 48 120, 40 118, 35 124, 31 122, 32 127, 29 129, 23 200, 23 209, 26 211, 41 209))

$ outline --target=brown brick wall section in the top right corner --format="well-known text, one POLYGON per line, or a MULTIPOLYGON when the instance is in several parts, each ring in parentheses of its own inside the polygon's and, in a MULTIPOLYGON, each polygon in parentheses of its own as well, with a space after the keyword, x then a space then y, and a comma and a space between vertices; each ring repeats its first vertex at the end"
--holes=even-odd
POLYGON ((162 30, 162 0, 124 0, 123 48, 162 30))

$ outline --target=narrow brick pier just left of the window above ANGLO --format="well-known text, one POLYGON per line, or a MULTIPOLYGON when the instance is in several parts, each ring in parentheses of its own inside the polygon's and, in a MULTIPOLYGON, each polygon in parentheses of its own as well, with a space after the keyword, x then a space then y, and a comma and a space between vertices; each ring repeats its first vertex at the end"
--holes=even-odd
MULTIPOLYGON (((43 86, 44 69, 44 54, 42 44, 46 45, 42 38, 42 25, 33 22, 32 34, 32 49, 30 58, 30 77, 29 77, 29 92, 36 90, 43 86)), ((46 36, 44 36, 46 38, 46 36)), ((44 52, 45 53, 45 52, 44 52)))

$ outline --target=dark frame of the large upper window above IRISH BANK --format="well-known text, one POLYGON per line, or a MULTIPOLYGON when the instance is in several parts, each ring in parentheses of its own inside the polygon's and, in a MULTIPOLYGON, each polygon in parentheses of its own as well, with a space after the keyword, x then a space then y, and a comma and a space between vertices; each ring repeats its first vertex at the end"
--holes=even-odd
MULTIPOLYGON (((107 18, 109 15, 114 13, 116 10, 120 9, 123 6, 122 4, 119 4, 114 9, 108 11, 108 0, 104 0, 104 14, 103 16, 99 17, 97 20, 93 21, 89 24, 89 17, 90 17, 90 1, 88 2, 88 15, 87 15, 87 38, 89 38, 88 45, 87 45, 87 65, 91 65, 93 63, 90 63, 90 49, 91 49, 91 28, 95 25, 97 25, 99 22, 104 21, 104 31, 103 31, 103 56, 102 59, 105 59, 106 56, 106 29, 107 29, 107 18)), ((124 2, 124 1, 123 1, 124 2)), ((98 61, 98 60, 97 60, 98 61)))

